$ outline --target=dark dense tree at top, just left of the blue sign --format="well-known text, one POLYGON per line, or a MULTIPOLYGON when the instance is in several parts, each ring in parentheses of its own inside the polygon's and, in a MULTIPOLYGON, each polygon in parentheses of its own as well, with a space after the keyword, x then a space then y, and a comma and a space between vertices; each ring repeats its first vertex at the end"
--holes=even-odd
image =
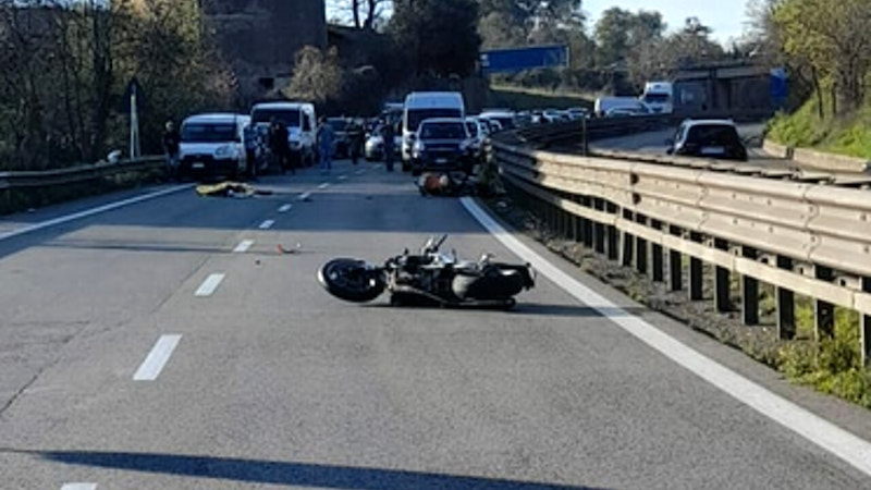
POLYGON ((416 75, 466 76, 478 61, 474 0, 396 0, 389 29, 416 75))

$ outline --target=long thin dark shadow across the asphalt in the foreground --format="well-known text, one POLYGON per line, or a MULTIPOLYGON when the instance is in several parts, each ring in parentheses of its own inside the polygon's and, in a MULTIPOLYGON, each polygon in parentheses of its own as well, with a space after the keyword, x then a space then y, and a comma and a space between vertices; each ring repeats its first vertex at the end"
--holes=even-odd
POLYGON ((69 465, 298 487, 347 490, 494 489, 594 490, 591 487, 514 481, 401 469, 363 468, 310 463, 236 460, 180 454, 51 451, 41 458, 69 465))

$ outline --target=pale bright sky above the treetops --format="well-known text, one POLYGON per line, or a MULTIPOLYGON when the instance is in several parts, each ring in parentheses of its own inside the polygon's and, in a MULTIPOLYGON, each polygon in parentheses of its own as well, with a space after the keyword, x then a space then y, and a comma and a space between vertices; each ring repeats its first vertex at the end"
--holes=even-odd
MULTIPOLYGON (((328 19, 335 15, 331 3, 336 3, 336 0, 327 1, 328 19)), ((699 17, 702 24, 713 29, 712 37, 721 44, 727 44, 729 38, 739 37, 747 21, 745 15, 747 0, 582 0, 581 3, 582 10, 589 16, 587 26, 590 30, 602 12, 612 7, 633 12, 659 11, 670 30, 679 29, 687 17, 699 17)))

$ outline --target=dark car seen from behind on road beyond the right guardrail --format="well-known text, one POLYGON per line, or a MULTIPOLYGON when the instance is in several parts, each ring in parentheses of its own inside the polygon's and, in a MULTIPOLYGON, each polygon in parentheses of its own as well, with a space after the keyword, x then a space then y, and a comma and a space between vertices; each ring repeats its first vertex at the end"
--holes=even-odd
POLYGON ((668 155, 747 161, 747 147, 728 120, 687 120, 666 142, 668 155))

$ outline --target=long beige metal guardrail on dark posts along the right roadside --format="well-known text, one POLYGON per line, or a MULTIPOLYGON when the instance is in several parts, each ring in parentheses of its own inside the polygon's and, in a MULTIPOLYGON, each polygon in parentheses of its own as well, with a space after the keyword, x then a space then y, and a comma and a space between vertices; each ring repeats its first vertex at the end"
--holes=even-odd
POLYGON ((505 183, 545 204, 557 232, 654 281, 665 281, 667 262, 674 291, 684 289, 688 256, 692 299, 702 298, 702 264, 712 264, 720 311, 732 309, 729 273, 740 274, 746 324, 759 322, 759 282, 772 284, 784 339, 796 333, 795 294, 815 301, 818 338, 833 334, 834 305, 857 310, 871 359, 871 192, 704 160, 584 157, 498 140, 492 149, 505 183))

